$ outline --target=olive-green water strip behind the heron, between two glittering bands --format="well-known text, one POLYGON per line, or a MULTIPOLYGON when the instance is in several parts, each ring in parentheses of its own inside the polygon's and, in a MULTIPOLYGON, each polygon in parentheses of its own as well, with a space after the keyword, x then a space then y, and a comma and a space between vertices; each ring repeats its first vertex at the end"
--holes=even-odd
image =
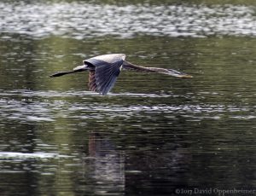
POLYGON ((0 82, 2 89, 86 90, 86 73, 56 79, 48 76, 55 71, 73 69, 94 55, 125 53, 127 60, 135 64, 173 68, 188 72, 194 78, 180 80, 158 74, 122 72, 113 92, 183 90, 194 94, 223 93, 230 96, 229 99, 241 94, 238 100, 248 99, 255 83, 254 44, 255 39, 248 37, 2 40, 0 82), (156 85, 161 83, 164 85, 156 85))

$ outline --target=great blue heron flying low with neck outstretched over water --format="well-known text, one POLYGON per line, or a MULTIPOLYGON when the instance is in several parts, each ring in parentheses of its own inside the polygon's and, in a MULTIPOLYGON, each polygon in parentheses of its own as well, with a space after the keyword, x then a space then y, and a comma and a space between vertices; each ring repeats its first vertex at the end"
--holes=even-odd
POLYGON ((124 54, 99 55, 83 62, 83 66, 77 66, 73 68, 73 71, 56 72, 50 77, 59 77, 73 72, 89 71, 89 89, 99 92, 102 95, 108 94, 113 88, 113 84, 122 68, 140 72, 159 72, 177 78, 192 78, 192 76, 186 73, 177 72, 173 69, 136 66, 131 62, 125 61, 124 54))

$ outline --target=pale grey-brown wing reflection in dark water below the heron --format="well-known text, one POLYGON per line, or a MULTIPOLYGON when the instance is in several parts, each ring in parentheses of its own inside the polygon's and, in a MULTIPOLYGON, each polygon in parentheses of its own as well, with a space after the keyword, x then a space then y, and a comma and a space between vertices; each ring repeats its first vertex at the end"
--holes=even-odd
POLYGON ((108 137, 90 133, 84 174, 89 174, 95 182, 96 193, 124 193, 124 165, 124 155, 115 149, 108 137))

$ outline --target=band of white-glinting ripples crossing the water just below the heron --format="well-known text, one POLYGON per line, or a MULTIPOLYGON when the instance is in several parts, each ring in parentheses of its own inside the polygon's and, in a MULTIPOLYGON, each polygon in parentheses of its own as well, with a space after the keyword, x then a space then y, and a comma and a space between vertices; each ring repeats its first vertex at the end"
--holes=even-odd
MULTIPOLYGON (((25 122, 54 122, 56 118, 76 118, 76 119, 114 119, 114 118, 152 118, 154 114, 161 113, 166 118, 189 118, 200 121, 204 118, 239 118, 243 120, 256 118, 255 112, 248 106, 236 106, 232 104, 203 104, 191 102, 189 104, 127 104, 126 106, 113 102, 91 102, 96 94, 86 94, 86 92, 57 92, 57 91, 29 91, 29 90, 10 90, 0 92, 4 95, 0 99, 0 118, 10 120, 21 120, 25 122), (17 97, 17 99, 14 99, 17 97), (21 98, 20 98, 21 97, 21 98), (60 97, 61 100, 56 97, 60 97), (77 97, 63 100, 65 97, 77 97)), ((121 99, 126 94, 122 95, 121 99)), ((100 95, 97 95, 100 97, 100 95)), ((132 96, 128 95, 129 98, 132 96)), ((141 95, 143 97, 143 95, 141 95)), ((101 96, 102 97, 102 96, 101 96)), ((135 94, 134 97, 138 97, 135 94)), ((139 98, 142 98, 139 97, 139 98)), ((145 96, 147 97, 147 95, 145 96)), ((162 98, 165 98, 163 95, 162 98)), ((169 95, 171 98, 172 96, 169 95)), ((169 99, 167 97, 167 99, 169 99)), ((103 98, 103 97, 102 97, 103 98)), ((119 99, 119 96, 113 97, 119 99)), ((112 99, 113 99, 112 98, 112 99)), ((148 99, 159 99, 160 95, 149 95, 148 99)), ((108 98, 107 98, 108 99, 108 98)))

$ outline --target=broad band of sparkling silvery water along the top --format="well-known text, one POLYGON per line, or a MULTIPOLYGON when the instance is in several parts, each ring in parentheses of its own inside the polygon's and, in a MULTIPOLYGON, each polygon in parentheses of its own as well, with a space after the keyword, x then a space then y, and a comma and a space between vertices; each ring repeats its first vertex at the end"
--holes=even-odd
POLYGON ((0 3, 0 32, 83 39, 137 34, 169 37, 255 36, 253 7, 0 3))

